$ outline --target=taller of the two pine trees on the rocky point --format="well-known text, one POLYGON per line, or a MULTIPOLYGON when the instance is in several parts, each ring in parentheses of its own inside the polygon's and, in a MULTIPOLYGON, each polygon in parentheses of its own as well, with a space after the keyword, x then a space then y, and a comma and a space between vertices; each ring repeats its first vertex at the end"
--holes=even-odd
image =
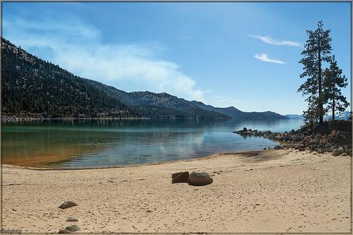
MULTIPOLYGON (((323 22, 318 22, 318 28, 313 30, 306 30, 308 40, 306 41, 305 48, 301 54, 304 56, 299 63, 303 64, 303 73, 301 78, 307 78, 298 92, 303 95, 308 95, 306 99, 309 102, 309 108, 313 109, 316 105, 317 112, 311 112, 318 115, 320 123, 323 123, 323 61, 330 62, 331 53, 331 38, 330 30, 323 30, 323 22)), ((309 111, 309 110, 308 110, 309 111)))

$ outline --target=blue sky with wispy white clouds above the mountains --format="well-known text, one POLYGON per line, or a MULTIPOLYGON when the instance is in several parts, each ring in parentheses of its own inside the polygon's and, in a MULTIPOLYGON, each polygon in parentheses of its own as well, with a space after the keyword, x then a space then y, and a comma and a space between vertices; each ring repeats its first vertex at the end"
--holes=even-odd
POLYGON ((349 78, 350 3, 2 3, 3 36, 72 73, 243 111, 301 114, 318 20, 349 78))

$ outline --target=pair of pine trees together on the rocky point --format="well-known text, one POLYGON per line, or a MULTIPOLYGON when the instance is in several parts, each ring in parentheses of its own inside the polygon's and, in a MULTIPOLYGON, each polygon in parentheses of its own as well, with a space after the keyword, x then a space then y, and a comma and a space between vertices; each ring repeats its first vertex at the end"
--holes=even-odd
POLYGON ((330 30, 323 29, 323 22, 318 22, 316 30, 306 30, 308 40, 301 54, 303 64, 301 78, 306 81, 300 86, 298 92, 306 96, 308 109, 303 116, 308 122, 323 123, 323 116, 332 112, 343 112, 349 102, 342 95, 341 88, 347 86, 347 78, 342 74, 342 69, 337 66, 335 55, 332 54, 330 30), (328 66, 325 68, 325 64, 328 66))

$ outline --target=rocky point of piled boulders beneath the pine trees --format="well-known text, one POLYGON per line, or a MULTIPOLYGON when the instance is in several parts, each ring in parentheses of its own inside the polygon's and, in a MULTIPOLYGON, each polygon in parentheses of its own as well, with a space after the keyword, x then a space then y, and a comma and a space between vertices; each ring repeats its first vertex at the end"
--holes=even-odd
POLYGON ((310 128, 303 126, 299 130, 285 132, 257 131, 243 128, 240 131, 233 131, 242 136, 262 136, 270 140, 279 141, 280 148, 294 148, 299 151, 309 150, 318 154, 332 152, 333 156, 352 155, 352 133, 350 122, 335 123, 335 125, 326 124, 323 128, 310 128))

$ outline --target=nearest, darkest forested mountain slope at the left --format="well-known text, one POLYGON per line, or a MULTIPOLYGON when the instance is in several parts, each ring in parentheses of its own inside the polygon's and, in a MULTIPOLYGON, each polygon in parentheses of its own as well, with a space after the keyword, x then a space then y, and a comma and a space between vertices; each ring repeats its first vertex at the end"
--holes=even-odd
POLYGON ((2 40, 2 113, 19 117, 139 116, 59 66, 2 40))

